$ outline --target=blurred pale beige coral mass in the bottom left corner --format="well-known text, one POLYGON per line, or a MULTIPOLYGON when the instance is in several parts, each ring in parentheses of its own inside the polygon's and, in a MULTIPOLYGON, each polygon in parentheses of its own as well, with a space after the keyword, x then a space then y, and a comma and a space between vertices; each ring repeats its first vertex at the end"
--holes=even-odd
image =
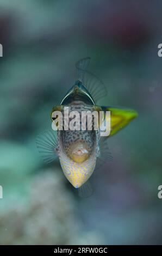
POLYGON ((69 245, 98 243, 97 234, 80 231, 74 199, 53 170, 33 176, 26 195, 11 194, 0 214, 1 245, 69 245), (80 239, 78 236, 80 233, 80 239))

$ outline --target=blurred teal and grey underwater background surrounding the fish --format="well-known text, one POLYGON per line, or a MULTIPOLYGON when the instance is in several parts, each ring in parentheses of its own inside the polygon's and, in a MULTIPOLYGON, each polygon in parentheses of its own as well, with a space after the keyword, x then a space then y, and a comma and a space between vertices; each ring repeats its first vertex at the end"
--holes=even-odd
POLYGON ((161 1, 0 1, 0 244, 161 244, 161 1), (101 105, 139 117, 109 138, 114 161, 79 198, 57 161, 35 145, 77 78, 74 63, 108 90, 101 105))

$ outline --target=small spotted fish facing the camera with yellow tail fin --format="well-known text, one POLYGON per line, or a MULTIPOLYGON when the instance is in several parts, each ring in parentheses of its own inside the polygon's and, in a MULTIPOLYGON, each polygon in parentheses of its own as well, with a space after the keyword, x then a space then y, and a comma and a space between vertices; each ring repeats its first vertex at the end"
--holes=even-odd
MULTIPOLYGON (((86 57, 76 63, 77 80, 65 94, 60 105, 52 108, 51 120, 56 131, 51 129, 42 132, 36 138, 36 145, 43 160, 50 163, 58 157, 64 175, 71 185, 79 190, 80 197, 91 196, 92 188, 89 179, 97 169, 97 163, 99 162, 99 168, 102 168, 102 163, 113 160, 107 143, 108 138, 138 117, 138 112, 134 109, 97 105, 98 100, 107 95, 107 88, 88 70, 89 62, 90 57, 86 57), (82 115, 83 111, 102 112, 103 119, 98 121, 98 129, 94 129, 93 117, 91 130, 83 130, 80 127, 67 130, 65 124, 69 125, 72 121, 68 114, 68 120, 64 119, 63 127, 59 129, 58 119, 53 113, 59 112, 65 117, 65 107, 68 108, 68 113, 77 112, 79 115, 82 115), (108 136, 103 137, 101 125, 107 121, 106 112, 110 112, 110 131, 108 136)), ((86 120, 85 124, 87 128, 86 120)))

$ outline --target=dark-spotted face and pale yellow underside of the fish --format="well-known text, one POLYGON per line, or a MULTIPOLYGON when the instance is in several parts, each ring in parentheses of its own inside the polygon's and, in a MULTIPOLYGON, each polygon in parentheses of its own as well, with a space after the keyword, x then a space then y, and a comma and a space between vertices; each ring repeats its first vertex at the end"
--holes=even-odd
MULTIPOLYGON (((85 105, 83 101, 72 101, 69 111, 78 111, 81 116, 82 111, 92 111, 92 107, 85 105)), ((94 172, 97 143, 97 131, 93 129, 58 131, 60 164, 66 178, 76 188, 82 186, 94 172), (76 157, 71 152, 74 149, 76 149, 76 157), (82 155, 78 157, 79 153, 82 155)))

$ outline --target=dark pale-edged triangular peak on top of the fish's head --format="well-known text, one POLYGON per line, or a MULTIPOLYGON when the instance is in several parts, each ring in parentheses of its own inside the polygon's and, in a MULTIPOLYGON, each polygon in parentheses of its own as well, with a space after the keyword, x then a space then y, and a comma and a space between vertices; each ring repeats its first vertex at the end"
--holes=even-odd
POLYGON ((61 101, 61 105, 66 105, 73 101, 82 101, 89 105, 95 104, 88 90, 83 86, 83 83, 79 80, 76 81, 76 83, 74 84, 74 86, 71 87, 70 90, 68 90, 66 96, 61 101))

